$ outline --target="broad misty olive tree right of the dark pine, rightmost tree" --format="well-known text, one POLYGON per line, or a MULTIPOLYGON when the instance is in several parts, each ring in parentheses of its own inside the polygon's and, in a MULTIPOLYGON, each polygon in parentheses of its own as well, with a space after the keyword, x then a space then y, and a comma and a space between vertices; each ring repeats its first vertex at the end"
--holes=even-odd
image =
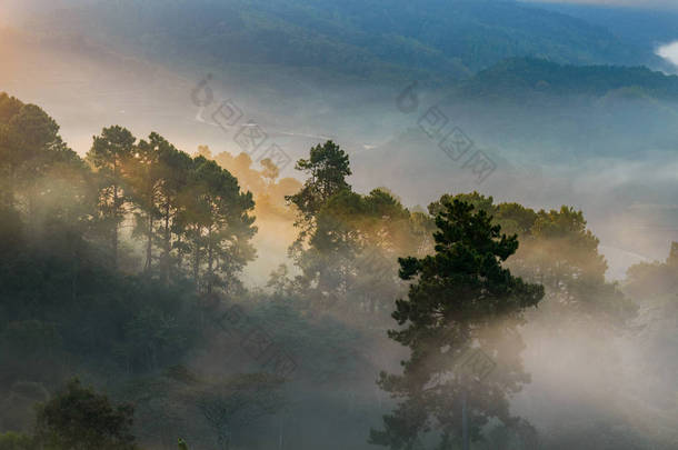
MULTIPOLYGON (((500 209, 502 220, 524 216, 506 206, 500 209)), ((598 251, 600 240, 587 229, 581 211, 565 206, 538 211, 521 242, 510 267, 546 288, 541 313, 547 327, 557 330, 571 322, 592 326, 591 332, 617 332, 637 316, 637 306, 605 279, 607 261, 598 251)))

